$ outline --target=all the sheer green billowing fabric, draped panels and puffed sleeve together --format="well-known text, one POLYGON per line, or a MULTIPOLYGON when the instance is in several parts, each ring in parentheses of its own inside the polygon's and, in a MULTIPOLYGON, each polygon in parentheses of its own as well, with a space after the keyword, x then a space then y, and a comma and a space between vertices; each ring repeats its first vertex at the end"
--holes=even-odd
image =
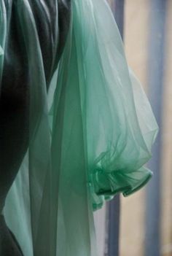
MULTIPOLYGON (((95 256, 93 210, 152 177, 144 164, 157 123, 105 0, 71 1, 69 34, 48 92, 50 66, 43 68, 29 1, 17 8, 30 69, 29 147, 4 216, 25 256, 95 256)), ((3 49, 4 26, 0 33, 3 49)))

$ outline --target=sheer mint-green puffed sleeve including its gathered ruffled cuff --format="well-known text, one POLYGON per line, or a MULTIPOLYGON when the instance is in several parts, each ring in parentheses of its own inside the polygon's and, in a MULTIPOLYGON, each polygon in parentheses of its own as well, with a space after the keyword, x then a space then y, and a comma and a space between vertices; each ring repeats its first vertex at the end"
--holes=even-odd
POLYGON ((87 184, 98 209, 104 198, 130 195, 152 177, 144 164, 157 123, 106 1, 73 1, 72 24, 66 85, 79 88, 87 184))

